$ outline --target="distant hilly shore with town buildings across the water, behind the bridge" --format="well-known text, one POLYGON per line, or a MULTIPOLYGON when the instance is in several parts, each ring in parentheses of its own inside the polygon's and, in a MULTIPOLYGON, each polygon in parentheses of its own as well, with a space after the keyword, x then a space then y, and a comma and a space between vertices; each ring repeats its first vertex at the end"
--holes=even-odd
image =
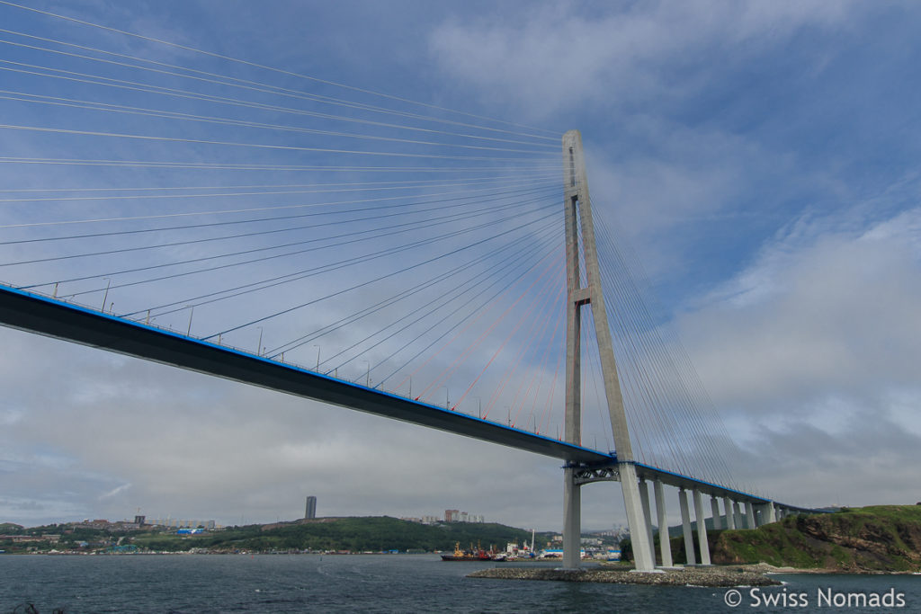
MULTIPOLYGON (((401 553, 453 551, 473 544, 509 557, 555 556, 556 532, 496 523, 483 515, 446 509, 444 516, 318 517, 317 498, 307 498, 304 517, 271 524, 224 527, 208 518, 148 518, 110 521, 85 518, 41 527, 0 522, 0 554, 189 553, 401 553), (414 528, 415 527, 415 528, 414 528)), ((610 556, 626 532, 622 527, 582 538, 583 549, 610 556)))

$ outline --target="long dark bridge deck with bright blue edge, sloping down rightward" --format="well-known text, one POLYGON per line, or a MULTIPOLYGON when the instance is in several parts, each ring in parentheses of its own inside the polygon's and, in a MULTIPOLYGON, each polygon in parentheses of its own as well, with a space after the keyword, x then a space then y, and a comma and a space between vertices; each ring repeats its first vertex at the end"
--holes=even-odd
MULTIPOLYGON (((376 388, 329 377, 297 365, 286 365, 263 356, 205 342, 170 330, 118 318, 87 307, 0 285, 0 324, 18 330, 81 343, 111 352, 179 366, 211 376, 286 392, 379 416, 421 424, 454 434, 527 450, 569 463, 591 467, 612 466, 614 454, 522 431, 506 424, 449 411, 436 405, 407 399, 376 388)), ((678 488, 695 489, 736 501, 768 501, 745 492, 642 463, 637 474, 678 488)), ((790 509, 808 511, 785 505, 790 509)))

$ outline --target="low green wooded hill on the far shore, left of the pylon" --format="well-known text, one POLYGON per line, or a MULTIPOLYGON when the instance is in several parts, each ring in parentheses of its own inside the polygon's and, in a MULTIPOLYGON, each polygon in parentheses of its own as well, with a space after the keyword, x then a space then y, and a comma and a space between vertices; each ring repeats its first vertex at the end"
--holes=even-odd
MULTIPOLYGON (((549 534, 537 536, 542 548, 549 534)), ((389 516, 318 518, 293 523, 232 527, 201 536, 135 536, 133 543, 149 550, 272 551, 350 550, 352 552, 453 550, 481 543, 504 549, 508 542, 530 542, 530 531, 495 523, 422 525, 389 516)))

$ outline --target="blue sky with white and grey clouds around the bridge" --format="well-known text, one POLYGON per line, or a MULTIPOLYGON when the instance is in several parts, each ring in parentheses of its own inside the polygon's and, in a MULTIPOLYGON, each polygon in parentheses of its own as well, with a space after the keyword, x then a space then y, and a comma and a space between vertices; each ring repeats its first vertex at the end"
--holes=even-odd
MULTIPOLYGON (((533 127, 515 128, 519 132, 558 138, 580 130, 593 207, 643 263, 662 312, 740 447, 740 480, 799 505, 921 500, 915 477, 921 449, 921 8, 915 4, 23 5, 533 127)), ((16 6, 0 5, 0 16, 3 28, 17 32, 203 71, 236 71, 244 79, 257 74, 251 66, 16 6)), ((6 32, 0 38, 14 40, 6 32)), ((0 47, 0 59, 27 61, 22 47, 0 47)), ((54 65, 77 70, 76 60, 59 62, 54 65)), ((7 76, 12 85, 4 89, 79 94, 7 76)), ((130 71, 119 76, 134 78, 130 71)), ((284 87, 408 108, 365 91, 274 76, 284 87)), ((132 104, 148 98, 156 97, 139 96, 132 104)), ((118 115, 102 122, 80 115, 77 125, 78 116, 67 115, 76 111, 2 102, 6 124, 62 127, 55 123, 60 118, 81 130, 138 132, 148 122, 174 138, 191 130, 169 132, 175 129, 166 122, 160 128, 157 120, 118 115)), ((200 101, 182 104, 184 112, 207 109, 200 101)), ((465 121, 484 123, 472 116, 465 121)), ((2 128, 0 156, 69 156, 72 139, 2 128)), ((178 156, 166 143, 93 144, 100 158, 178 156)), ((189 147, 181 159, 212 159, 206 147, 189 147)), ((555 159, 556 150, 548 151, 555 159)), ((272 160, 268 152, 251 155, 246 159, 272 160)), ((243 159, 234 157, 236 150, 221 156, 243 159)), ((200 180, 162 168, 132 172, 0 168, 10 189, 23 190, 40 183, 200 180)), ((209 178, 214 185, 239 185, 251 175, 221 171, 209 178)), ((265 173, 260 180, 290 177, 265 173)), ((112 207, 143 213, 128 199, 85 204, 88 216, 111 215, 112 207)), ((39 205, 16 206, 7 209, 15 212, 8 219, 45 219, 30 208, 39 205)), ((70 205, 54 206, 60 208, 41 214, 69 214, 70 205)), ((494 224, 507 229, 513 222, 494 224)), ((182 248, 192 255, 196 249, 182 248)), ((36 275, 45 279, 40 273, 48 269, 6 271, 0 270, 0 281, 25 284, 22 279, 36 275)), ((173 289, 181 296, 193 284, 173 289)), ((150 305, 156 293, 147 292, 112 300, 150 305)), ((207 317, 229 327, 256 307, 215 307, 207 317)), ((196 326, 204 308, 194 311, 196 326)), ((170 325, 179 328, 192 322, 188 312, 173 318, 170 325)), ((296 322, 286 322, 294 330, 296 322)), ((249 337, 238 334, 233 342, 256 343, 254 328, 249 337)), ((262 332, 259 337, 262 342, 262 332)), ((320 351, 328 351, 326 343, 320 351)), ((313 494, 321 516, 440 516, 461 509, 518 527, 562 526, 562 476, 553 459, 25 332, 0 330, 0 345, 0 521, 118 519, 140 510, 221 524, 274 522, 302 516, 304 498, 313 494)), ((302 349, 304 361, 318 351, 313 347, 302 349)), ((360 376, 359 368, 349 377, 360 376)), ((673 493, 670 501, 675 518, 673 493)), ((609 483, 584 488, 582 509, 584 527, 625 522, 620 490, 609 483)))

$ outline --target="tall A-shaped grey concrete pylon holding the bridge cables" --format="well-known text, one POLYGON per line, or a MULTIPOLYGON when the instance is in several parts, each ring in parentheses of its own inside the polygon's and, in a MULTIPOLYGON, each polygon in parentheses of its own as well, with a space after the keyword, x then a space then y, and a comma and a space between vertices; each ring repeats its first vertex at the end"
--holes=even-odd
MULTIPOLYGON (((595 227, 591 219, 589 180, 582 151, 582 134, 570 130, 563 135, 563 175, 565 186, 566 244, 566 383, 565 440, 582 443, 581 335, 582 309, 589 307, 600 352, 605 400, 611 417, 617 474, 624 492, 627 524, 630 527, 636 571, 655 570, 655 557, 647 536, 647 516, 643 512, 633 447, 624 411, 624 397, 617 376, 608 312, 601 292, 601 273, 595 227), (581 240, 579 230, 581 230, 581 240), (582 258, 580 259, 580 248, 582 258), (585 279, 582 278, 582 267, 585 279)), ((577 468, 568 462, 564 469, 563 567, 577 569, 580 562, 581 492, 577 468)))

